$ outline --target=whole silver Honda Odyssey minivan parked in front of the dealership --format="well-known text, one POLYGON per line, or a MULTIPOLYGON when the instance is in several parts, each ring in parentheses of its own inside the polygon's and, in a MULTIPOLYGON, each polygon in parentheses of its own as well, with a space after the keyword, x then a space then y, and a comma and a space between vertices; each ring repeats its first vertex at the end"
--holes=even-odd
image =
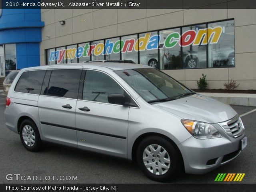
POLYGON ((52 142, 134 160, 158 181, 213 170, 247 145, 230 106, 140 64, 22 69, 4 114, 29 151, 52 142))

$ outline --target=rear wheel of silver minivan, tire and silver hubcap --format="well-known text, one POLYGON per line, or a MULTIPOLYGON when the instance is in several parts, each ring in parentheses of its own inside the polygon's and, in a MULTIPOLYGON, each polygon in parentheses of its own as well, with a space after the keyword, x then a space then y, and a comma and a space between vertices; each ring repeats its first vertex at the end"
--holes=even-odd
POLYGON ((42 141, 36 124, 29 119, 20 124, 20 140, 28 151, 36 152, 40 150, 42 141))

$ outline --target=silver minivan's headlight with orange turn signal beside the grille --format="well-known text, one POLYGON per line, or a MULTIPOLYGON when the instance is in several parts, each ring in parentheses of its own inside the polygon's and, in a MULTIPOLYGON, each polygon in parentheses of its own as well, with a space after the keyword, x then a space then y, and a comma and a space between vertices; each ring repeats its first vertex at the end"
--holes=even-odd
POLYGON ((222 137, 218 130, 211 124, 186 119, 182 119, 181 122, 186 130, 195 138, 210 139, 222 137))

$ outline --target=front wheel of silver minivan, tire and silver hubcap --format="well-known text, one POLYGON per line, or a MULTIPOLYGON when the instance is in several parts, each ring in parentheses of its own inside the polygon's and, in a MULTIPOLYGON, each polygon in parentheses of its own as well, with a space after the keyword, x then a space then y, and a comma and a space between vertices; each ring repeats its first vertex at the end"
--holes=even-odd
POLYGON ((136 158, 142 172, 152 180, 170 180, 182 172, 178 150, 160 136, 142 140, 137 148, 136 158))

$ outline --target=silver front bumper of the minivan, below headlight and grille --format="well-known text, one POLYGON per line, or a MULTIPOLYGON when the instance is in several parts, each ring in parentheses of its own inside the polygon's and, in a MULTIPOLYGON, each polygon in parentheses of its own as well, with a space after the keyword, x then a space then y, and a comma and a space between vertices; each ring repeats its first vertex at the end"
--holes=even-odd
POLYGON ((240 154, 240 142, 244 138, 224 137, 196 139, 193 136, 180 143, 186 173, 204 174, 226 164, 240 154))

